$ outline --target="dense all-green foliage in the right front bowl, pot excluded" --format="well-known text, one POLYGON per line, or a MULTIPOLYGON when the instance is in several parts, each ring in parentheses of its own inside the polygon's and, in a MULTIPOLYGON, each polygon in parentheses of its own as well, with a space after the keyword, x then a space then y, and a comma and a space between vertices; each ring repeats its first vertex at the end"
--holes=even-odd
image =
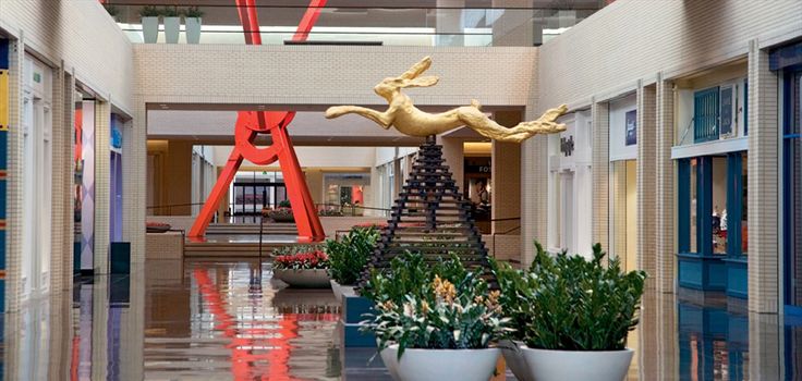
POLYGON ((637 325, 646 273, 623 272, 618 258, 602 265, 605 253, 593 246, 593 258, 550 256, 535 243, 537 255, 528 271, 496 266, 505 315, 521 331, 513 339, 528 347, 561 351, 618 351, 637 325))

